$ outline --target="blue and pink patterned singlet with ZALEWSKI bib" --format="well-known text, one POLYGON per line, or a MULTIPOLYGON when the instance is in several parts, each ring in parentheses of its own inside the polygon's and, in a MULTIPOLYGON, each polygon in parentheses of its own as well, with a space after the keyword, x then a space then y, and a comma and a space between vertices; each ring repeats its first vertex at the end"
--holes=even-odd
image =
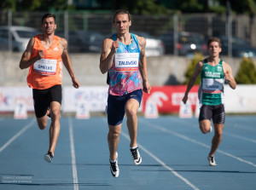
MULTIPOLYGON (((110 95, 127 95, 134 90, 142 89, 141 74, 138 69, 140 49, 137 37, 132 33, 131 37, 132 43, 129 45, 119 41, 113 66, 108 70, 110 95)), ((113 41, 116 39, 116 34, 113 34, 113 41)))

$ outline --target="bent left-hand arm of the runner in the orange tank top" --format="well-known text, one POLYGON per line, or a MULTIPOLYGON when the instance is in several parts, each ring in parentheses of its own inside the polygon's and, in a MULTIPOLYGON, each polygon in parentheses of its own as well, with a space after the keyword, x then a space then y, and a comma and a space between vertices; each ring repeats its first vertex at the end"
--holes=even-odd
POLYGON ((27 43, 26 50, 20 59, 20 69, 26 69, 29 66, 32 66, 37 60, 44 58, 44 51, 39 50, 38 55, 30 59, 32 55, 32 48, 35 43, 35 37, 32 37, 30 41, 27 43))

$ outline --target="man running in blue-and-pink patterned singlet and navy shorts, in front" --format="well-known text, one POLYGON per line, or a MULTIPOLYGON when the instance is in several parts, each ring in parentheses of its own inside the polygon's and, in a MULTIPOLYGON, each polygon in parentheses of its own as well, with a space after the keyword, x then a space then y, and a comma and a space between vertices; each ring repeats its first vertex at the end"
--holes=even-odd
POLYGON ((113 14, 113 26, 116 33, 105 38, 102 43, 100 69, 103 74, 108 72, 109 77, 109 160, 112 175, 118 177, 117 149, 125 113, 131 138, 130 150, 133 162, 136 165, 142 163, 137 147, 137 110, 142 101, 143 91, 149 93, 151 87, 147 75, 146 40, 129 32, 131 15, 128 11, 117 10, 113 14))

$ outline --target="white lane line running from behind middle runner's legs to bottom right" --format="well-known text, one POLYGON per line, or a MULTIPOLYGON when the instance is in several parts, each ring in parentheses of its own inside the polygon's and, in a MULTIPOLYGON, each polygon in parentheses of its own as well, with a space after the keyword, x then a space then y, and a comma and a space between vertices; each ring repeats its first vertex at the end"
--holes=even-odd
MULTIPOLYGON (((125 134, 124 132, 121 132, 121 135, 123 135, 128 141, 130 141, 130 137, 129 135, 125 134)), ((182 181, 184 181, 186 184, 189 185, 189 187, 192 187, 195 190, 199 190, 198 187, 195 187, 195 185, 193 185, 191 182, 189 182, 186 178, 184 178, 183 176, 179 175, 177 173, 177 171, 173 170, 171 167, 169 167, 168 165, 166 165, 162 160, 160 160, 160 158, 157 158, 153 153, 150 153, 145 147, 143 147, 141 144, 137 143, 138 147, 140 147, 141 150, 143 150, 145 153, 147 153, 151 158, 154 158, 154 160, 156 162, 158 162, 159 164, 161 164, 164 168, 166 168, 166 170, 170 170, 172 172, 172 174, 174 176, 177 176, 179 179, 181 179, 182 181)))

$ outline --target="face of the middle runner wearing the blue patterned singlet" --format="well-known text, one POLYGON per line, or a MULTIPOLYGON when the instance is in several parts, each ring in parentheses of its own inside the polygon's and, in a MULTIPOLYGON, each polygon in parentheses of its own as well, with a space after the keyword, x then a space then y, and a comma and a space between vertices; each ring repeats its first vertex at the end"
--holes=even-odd
POLYGON ((119 34, 129 32, 131 20, 129 20, 128 14, 117 14, 114 18, 113 26, 119 34))

